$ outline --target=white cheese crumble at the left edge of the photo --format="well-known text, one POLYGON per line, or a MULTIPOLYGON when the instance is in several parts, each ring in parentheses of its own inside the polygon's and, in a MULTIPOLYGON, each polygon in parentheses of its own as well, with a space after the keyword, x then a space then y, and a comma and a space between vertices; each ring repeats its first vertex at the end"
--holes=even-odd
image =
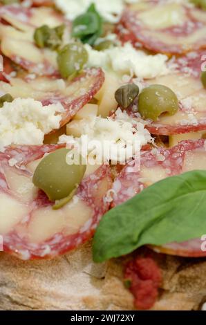
POLYGON ((62 104, 43 106, 32 98, 16 98, 0 109, 0 150, 7 145, 42 145, 44 135, 59 129, 62 104))

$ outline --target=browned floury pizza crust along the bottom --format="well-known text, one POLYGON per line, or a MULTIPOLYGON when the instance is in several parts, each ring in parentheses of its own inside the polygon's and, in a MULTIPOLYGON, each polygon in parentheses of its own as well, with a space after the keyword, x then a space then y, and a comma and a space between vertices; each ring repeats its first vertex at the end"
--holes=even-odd
MULTIPOLYGON (((206 300, 206 259, 152 254, 164 279, 153 310, 198 309, 206 300)), ((47 261, 20 261, 1 253, 0 309, 133 310, 122 263, 125 259, 93 263, 91 243, 47 261)))

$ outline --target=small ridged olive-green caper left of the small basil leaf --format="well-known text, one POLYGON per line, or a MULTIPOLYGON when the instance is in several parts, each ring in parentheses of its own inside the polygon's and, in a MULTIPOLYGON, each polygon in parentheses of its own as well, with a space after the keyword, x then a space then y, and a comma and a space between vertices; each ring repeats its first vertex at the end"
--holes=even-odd
POLYGON ((47 25, 43 25, 35 30, 34 39, 39 48, 48 47, 53 50, 58 48, 62 43, 62 37, 64 34, 64 25, 50 28, 47 25))

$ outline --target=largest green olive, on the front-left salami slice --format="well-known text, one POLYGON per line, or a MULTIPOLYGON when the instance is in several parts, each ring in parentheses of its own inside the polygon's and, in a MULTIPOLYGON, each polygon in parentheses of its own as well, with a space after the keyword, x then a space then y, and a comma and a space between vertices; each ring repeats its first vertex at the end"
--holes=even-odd
POLYGON ((50 201, 59 201, 74 193, 81 183, 86 165, 68 165, 69 149, 62 148, 45 156, 33 176, 33 183, 46 193, 50 201))

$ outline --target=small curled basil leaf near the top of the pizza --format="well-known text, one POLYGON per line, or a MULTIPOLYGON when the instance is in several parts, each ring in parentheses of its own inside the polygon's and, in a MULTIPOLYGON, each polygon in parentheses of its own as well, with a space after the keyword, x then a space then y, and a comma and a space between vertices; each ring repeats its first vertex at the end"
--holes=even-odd
POLYGON ((85 14, 73 21, 72 36, 81 39, 84 44, 93 45, 100 35, 102 35, 102 18, 95 5, 91 4, 85 14))

